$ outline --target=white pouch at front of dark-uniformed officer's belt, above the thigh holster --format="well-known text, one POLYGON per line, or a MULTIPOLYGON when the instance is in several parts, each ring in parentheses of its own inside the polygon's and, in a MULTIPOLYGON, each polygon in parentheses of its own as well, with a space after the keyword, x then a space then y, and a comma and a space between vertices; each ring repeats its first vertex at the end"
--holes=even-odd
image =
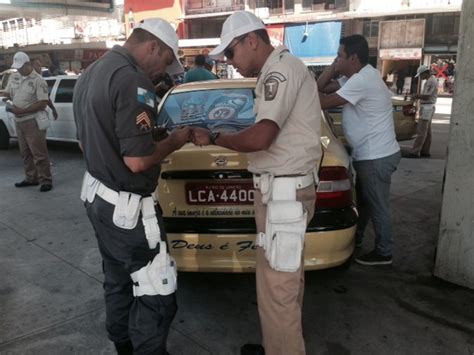
POLYGON ((138 216, 140 215, 141 196, 120 191, 117 204, 115 205, 113 222, 117 227, 124 229, 133 229, 137 226, 138 216))

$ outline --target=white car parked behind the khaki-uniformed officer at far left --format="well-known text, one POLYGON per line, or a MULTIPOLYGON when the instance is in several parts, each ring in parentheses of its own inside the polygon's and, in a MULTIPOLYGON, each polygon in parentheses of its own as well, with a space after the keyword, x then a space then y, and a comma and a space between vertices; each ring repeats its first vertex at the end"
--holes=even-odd
MULTIPOLYGON (((53 141, 77 142, 76 125, 72 112, 72 94, 77 76, 60 75, 44 78, 48 84, 50 99, 58 112, 58 119, 54 120, 49 108, 50 127, 46 131, 46 139, 53 141)), ((11 138, 16 138, 14 117, 0 107, 0 149, 7 149, 11 138)))

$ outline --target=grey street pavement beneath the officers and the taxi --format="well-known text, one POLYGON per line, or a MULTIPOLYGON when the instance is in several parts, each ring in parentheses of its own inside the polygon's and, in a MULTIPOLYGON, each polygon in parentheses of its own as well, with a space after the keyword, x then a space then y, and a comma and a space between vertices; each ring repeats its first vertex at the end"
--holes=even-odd
MULTIPOLYGON (((308 355, 474 354, 474 292, 431 274, 450 102, 437 108, 432 157, 402 158, 393 176, 393 266, 306 273, 308 355)), ((18 148, 0 151, 0 354, 113 354, 101 261, 79 200, 84 162, 75 145, 49 147, 48 193, 16 189, 18 148)), ((369 232, 358 252, 372 245, 369 232)), ((180 273, 178 302, 171 355, 239 354, 260 342, 253 274, 180 273)))

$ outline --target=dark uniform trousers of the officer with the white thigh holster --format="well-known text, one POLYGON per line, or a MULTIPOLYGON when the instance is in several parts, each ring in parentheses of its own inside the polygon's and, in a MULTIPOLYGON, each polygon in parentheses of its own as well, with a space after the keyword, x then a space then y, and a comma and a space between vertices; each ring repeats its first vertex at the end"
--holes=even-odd
MULTIPOLYGON (((106 328, 114 343, 130 341, 134 354, 166 354, 166 340, 177 311, 176 296, 134 297, 130 274, 145 266, 158 253, 145 237, 141 216, 134 229, 114 225, 114 206, 96 196, 86 202, 87 215, 94 227, 104 269, 106 328)), ((157 218, 165 238, 163 220, 157 218)))

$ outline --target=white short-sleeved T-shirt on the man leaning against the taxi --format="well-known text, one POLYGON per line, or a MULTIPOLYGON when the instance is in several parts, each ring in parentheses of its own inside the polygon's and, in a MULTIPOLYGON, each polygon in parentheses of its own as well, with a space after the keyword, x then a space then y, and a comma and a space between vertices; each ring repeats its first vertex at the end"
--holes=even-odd
POLYGON ((380 73, 367 64, 349 79, 339 79, 336 92, 348 103, 342 109, 342 129, 354 160, 373 160, 400 150, 395 137, 391 93, 380 73))

